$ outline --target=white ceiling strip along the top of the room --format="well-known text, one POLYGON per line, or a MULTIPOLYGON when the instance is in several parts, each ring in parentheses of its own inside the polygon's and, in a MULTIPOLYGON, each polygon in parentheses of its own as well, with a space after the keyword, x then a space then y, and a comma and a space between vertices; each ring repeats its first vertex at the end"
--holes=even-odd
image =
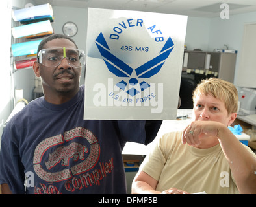
POLYGON ((218 17, 229 5, 229 15, 256 11, 255 0, 34 0, 36 5, 50 3, 52 6, 77 8, 109 8, 117 10, 138 10, 167 14, 183 14, 194 17, 218 17))

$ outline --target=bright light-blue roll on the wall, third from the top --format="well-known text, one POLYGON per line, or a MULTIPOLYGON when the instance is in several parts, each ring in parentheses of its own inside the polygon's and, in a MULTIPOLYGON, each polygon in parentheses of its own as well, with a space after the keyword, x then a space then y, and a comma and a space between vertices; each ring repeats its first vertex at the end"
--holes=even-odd
POLYGON ((25 43, 12 44, 12 55, 14 57, 17 57, 17 56, 36 54, 38 45, 40 44, 41 41, 42 39, 36 40, 36 41, 28 41, 25 43))

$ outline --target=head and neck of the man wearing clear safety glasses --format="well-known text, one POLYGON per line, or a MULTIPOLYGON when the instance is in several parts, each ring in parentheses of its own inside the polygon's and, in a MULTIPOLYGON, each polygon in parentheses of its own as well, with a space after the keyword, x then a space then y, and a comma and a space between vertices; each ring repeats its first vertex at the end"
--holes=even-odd
POLYGON ((84 51, 78 50, 69 39, 53 39, 45 44, 44 49, 39 46, 34 72, 36 76, 42 77, 47 102, 64 103, 77 94, 81 67, 84 65, 84 51))

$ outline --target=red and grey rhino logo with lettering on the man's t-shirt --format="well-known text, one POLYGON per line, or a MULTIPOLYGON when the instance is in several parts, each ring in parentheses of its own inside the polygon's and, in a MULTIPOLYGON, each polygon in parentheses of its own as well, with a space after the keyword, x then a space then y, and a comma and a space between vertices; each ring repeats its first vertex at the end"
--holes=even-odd
POLYGON ((54 192, 51 192, 49 186, 47 190, 47 186, 40 183, 41 186, 34 186, 34 193, 62 193, 56 187, 58 184, 54 184, 62 181, 67 191, 81 190, 92 184, 99 185, 99 180, 111 173, 113 168, 113 160, 110 158, 109 162, 99 162, 99 169, 88 172, 96 166, 99 155, 96 136, 83 127, 46 138, 34 151, 34 171, 40 179, 51 185, 54 192))

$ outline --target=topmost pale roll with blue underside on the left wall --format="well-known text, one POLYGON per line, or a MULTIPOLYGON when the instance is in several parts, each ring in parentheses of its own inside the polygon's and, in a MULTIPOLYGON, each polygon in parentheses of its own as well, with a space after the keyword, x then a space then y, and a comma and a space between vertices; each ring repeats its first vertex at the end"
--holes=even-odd
POLYGON ((12 19, 14 19, 14 21, 20 21, 21 23, 42 21, 42 19, 45 18, 53 21, 53 8, 49 3, 12 11, 12 19))

